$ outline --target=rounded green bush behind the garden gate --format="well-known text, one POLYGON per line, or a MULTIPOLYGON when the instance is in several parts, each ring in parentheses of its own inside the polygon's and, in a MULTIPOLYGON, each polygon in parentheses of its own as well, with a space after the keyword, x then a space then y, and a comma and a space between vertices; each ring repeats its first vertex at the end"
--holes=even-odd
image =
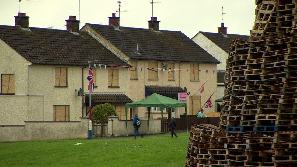
POLYGON ((104 124, 108 122, 108 117, 116 115, 114 107, 110 103, 104 103, 92 107, 92 122, 96 124, 104 124))

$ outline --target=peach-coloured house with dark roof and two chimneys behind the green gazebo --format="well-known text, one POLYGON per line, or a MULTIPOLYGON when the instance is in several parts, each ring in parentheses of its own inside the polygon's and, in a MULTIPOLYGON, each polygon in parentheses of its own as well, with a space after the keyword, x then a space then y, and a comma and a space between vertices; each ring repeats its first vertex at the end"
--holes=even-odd
MULTIPOLYGON (((129 98, 138 101, 152 93, 177 99, 178 92, 188 93, 188 114, 197 114, 212 93, 216 99, 216 65, 220 63, 180 31, 159 30, 156 17, 149 20, 148 29, 119 27, 119 18, 112 14, 109 25, 86 23, 81 31, 88 32, 98 42, 132 66, 129 98), (208 80, 208 81, 207 81, 208 80), (204 85, 204 94, 198 89, 204 85), (186 88, 186 89, 185 89, 186 88)), ((161 117, 159 108, 152 107, 151 118, 161 117)), ((164 109, 165 117, 179 117, 184 110, 164 109)), ((206 112, 214 111, 208 108, 206 112)), ((130 110, 147 118, 146 108, 130 110)))

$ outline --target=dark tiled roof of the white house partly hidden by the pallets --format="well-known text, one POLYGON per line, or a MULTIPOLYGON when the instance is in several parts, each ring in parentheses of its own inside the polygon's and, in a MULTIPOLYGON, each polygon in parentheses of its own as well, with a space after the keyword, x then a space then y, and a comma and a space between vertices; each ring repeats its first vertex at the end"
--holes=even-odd
POLYGON ((225 50, 225 52, 229 51, 230 43, 232 40, 242 39, 248 40, 250 36, 248 35, 239 35, 239 34, 227 34, 227 36, 222 33, 209 33, 200 31, 204 36, 206 36, 209 40, 217 44, 220 48, 225 50))

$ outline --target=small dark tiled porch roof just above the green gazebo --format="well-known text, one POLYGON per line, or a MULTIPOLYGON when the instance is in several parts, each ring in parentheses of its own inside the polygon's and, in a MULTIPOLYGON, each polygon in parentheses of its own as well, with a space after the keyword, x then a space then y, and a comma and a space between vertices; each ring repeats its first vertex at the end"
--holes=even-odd
POLYGON ((179 86, 145 85, 145 96, 158 93, 163 96, 177 97, 177 93, 186 92, 179 86))

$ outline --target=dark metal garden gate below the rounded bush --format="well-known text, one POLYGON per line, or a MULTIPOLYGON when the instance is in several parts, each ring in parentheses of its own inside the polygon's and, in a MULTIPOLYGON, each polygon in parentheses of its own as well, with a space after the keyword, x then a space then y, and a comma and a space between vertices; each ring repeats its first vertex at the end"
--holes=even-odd
POLYGON ((95 124, 92 123, 92 137, 105 137, 105 136, 113 136, 112 133, 112 119, 108 119, 108 122, 106 124, 95 124), (102 129, 102 135, 101 135, 101 129, 102 129))

